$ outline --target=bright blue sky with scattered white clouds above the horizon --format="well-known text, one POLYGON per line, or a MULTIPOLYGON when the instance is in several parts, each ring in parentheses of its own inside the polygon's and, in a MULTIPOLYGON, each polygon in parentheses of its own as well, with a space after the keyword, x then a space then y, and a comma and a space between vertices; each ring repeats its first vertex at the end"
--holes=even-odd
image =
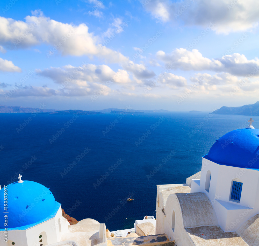
POLYGON ((0 104, 213 111, 258 101, 259 1, 0 1, 0 104))

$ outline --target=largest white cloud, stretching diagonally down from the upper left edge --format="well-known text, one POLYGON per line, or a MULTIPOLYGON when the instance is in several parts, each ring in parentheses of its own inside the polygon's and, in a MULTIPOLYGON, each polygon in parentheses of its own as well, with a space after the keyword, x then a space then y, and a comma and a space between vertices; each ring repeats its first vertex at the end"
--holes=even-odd
MULTIPOLYGON (((55 50, 57 47, 56 52, 60 52, 62 55, 88 55, 89 57, 94 55, 106 62, 118 63, 125 70, 129 69, 127 71, 132 72, 137 78, 151 78, 155 75, 144 65, 134 64, 120 52, 100 45, 100 38, 89 33, 85 24, 78 26, 65 24, 43 16, 40 11, 33 13, 39 16, 26 16, 25 22, 0 17, 2 34, 0 42, 3 46, 13 49, 45 43, 52 46, 51 50, 55 50), (17 44, 14 45, 14 42, 17 44)), ((113 25, 117 28, 119 23, 119 18, 116 18, 113 25)), ((123 22, 123 25, 127 25, 126 22, 125 24, 123 22)), ((48 57, 53 54, 51 50, 46 54, 48 57)))

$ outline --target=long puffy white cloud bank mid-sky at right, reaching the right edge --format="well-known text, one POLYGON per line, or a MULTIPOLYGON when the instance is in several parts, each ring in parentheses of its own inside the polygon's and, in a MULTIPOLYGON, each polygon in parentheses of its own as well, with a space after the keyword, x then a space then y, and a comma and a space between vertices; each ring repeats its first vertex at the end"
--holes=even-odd
POLYGON ((218 59, 209 59, 202 56, 198 50, 188 51, 184 48, 175 49, 170 54, 164 51, 156 53, 157 58, 165 63, 170 63, 173 69, 184 71, 216 71, 226 72, 237 76, 259 76, 258 58, 248 60, 244 55, 234 53, 218 59))

